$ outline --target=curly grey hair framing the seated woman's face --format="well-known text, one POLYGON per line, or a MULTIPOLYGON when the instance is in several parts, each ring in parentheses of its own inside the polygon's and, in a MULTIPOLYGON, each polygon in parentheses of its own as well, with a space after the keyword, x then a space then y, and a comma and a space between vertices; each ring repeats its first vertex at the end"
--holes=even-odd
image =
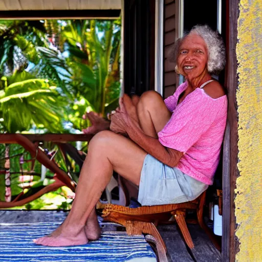
POLYGON ((222 37, 216 31, 213 31, 209 26, 194 26, 190 32, 179 38, 174 44, 170 52, 169 60, 176 62, 179 47, 183 40, 190 34, 197 34, 201 36, 206 42, 208 49, 207 70, 210 74, 219 74, 226 64, 226 49, 222 37))

